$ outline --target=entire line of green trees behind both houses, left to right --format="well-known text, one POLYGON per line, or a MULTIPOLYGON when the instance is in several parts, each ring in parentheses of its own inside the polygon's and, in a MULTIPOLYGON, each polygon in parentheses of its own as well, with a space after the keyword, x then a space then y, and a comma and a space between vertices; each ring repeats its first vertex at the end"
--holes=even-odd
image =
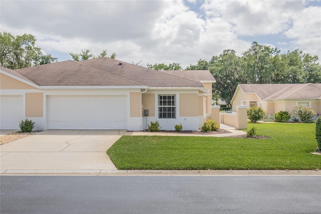
MULTIPOLYGON (((1 67, 19 69, 58 61, 51 54, 44 54, 35 42, 36 39, 31 34, 14 37, 10 33, 0 33, 1 67)), ((107 57, 107 50, 103 50, 98 56, 94 56, 89 49, 69 54, 74 61, 79 61, 107 57)), ((114 59, 116 56, 112 53, 110 58, 114 59)), ((213 98, 221 98, 230 103, 238 84, 321 83, 321 66, 317 61, 318 56, 298 49, 281 53, 277 48, 253 42, 241 56, 237 56, 235 50, 227 49, 209 61, 200 59, 197 64, 190 64, 185 70, 209 70, 216 79, 213 98)), ((147 67, 154 70, 183 70, 180 63, 176 62, 168 65, 147 63, 147 67)))

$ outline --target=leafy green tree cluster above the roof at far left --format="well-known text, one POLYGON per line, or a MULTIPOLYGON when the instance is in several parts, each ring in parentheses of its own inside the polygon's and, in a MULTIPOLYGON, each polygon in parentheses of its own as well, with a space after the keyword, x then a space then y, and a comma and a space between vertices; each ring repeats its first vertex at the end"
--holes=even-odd
POLYGON ((18 69, 57 61, 51 54, 45 55, 35 42, 31 34, 14 37, 10 33, 0 33, 1 67, 18 69))

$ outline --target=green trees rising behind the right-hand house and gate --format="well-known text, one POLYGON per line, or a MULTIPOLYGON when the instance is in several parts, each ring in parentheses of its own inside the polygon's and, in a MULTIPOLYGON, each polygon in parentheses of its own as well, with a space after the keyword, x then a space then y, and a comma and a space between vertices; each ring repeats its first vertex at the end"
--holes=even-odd
MULTIPOLYGON (((213 98, 230 103, 238 84, 321 83, 321 66, 317 61, 318 56, 298 49, 281 53, 277 48, 253 42, 241 56, 227 49, 209 61, 200 59, 185 70, 209 70, 216 79, 213 98)), ((158 69, 155 65, 150 68, 158 69)), ((183 70, 166 65, 161 68, 183 70)))

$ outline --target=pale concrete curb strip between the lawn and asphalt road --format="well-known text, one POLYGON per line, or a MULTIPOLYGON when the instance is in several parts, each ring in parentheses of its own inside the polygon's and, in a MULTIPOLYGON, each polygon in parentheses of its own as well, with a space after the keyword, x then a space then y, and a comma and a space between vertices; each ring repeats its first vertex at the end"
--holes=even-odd
POLYGON ((321 170, 2 170, 1 175, 66 176, 321 176, 321 170))

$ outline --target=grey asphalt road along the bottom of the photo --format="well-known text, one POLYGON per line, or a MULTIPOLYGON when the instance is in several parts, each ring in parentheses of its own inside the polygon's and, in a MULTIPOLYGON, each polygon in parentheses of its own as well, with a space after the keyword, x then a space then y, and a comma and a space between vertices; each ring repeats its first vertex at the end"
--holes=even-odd
POLYGON ((1 213, 321 213, 321 176, 1 176, 1 213))

